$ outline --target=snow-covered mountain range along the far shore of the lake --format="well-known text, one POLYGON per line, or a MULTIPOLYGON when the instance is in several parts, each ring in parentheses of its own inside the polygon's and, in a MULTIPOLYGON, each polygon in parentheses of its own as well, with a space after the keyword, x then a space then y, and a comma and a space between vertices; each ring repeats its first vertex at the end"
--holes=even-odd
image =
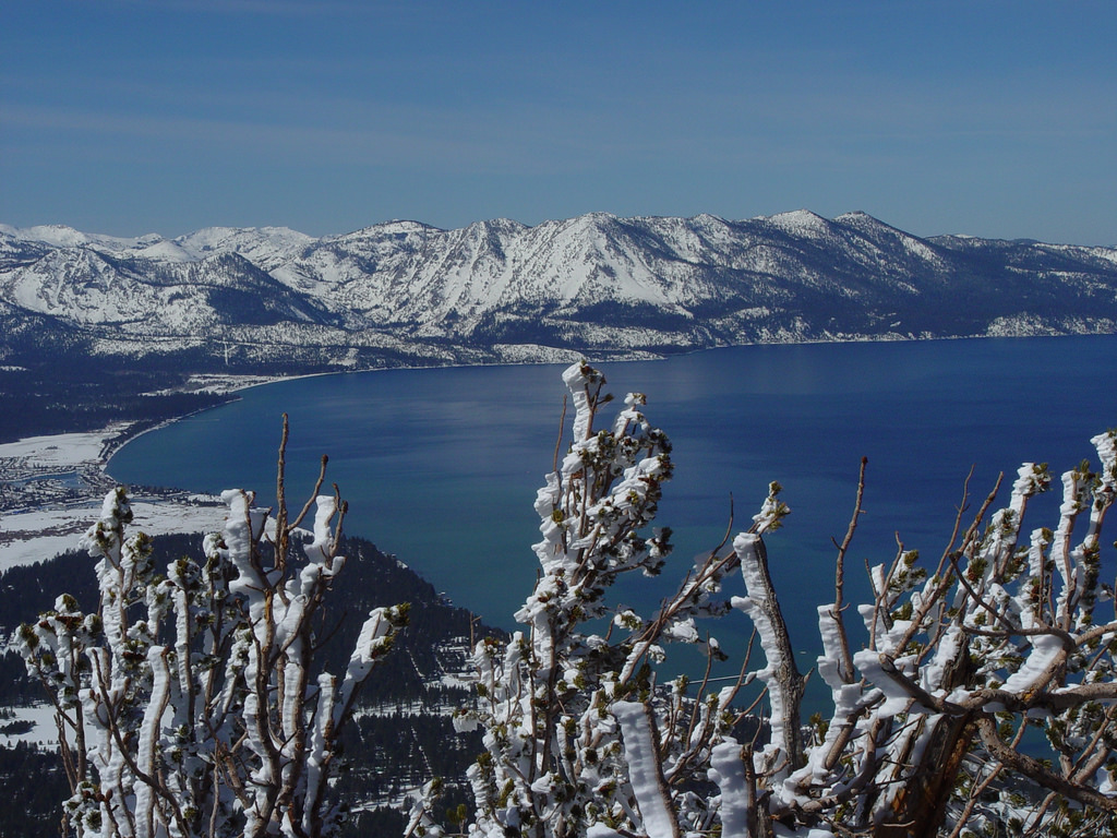
POLYGON ((1117 249, 923 239, 862 212, 805 210, 392 221, 319 239, 0 225, 0 363, 65 345, 304 366, 1113 332, 1117 249))

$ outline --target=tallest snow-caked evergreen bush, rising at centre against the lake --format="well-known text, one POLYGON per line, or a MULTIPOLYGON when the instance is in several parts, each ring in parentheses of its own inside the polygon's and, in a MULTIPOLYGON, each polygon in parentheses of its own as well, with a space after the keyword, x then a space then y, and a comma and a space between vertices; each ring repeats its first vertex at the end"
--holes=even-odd
POLYGON ((629 394, 610 429, 596 430, 610 400, 604 378, 582 363, 563 380, 573 436, 535 503, 541 574, 516 613, 527 631, 477 646, 477 706, 458 718, 486 731, 487 752, 469 774, 471 828, 494 838, 676 835, 676 808, 689 794, 678 783, 708 761, 736 689, 695 702, 685 679, 657 687, 652 666, 670 640, 720 654, 696 619, 727 609, 716 594, 737 560, 699 562, 651 618, 607 604, 619 575, 659 573, 670 553, 669 530, 646 532, 671 475, 670 444, 645 417, 642 396, 629 394), (648 702, 668 721, 652 724, 648 702))

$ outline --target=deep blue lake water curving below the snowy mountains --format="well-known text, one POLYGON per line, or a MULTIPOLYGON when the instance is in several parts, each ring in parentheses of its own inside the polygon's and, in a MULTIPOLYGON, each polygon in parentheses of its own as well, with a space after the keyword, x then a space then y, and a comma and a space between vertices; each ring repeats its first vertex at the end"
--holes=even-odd
MULTIPOLYGON (((608 364, 618 397, 648 394, 676 463, 658 521, 676 533, 665 581, 637 580, 621 596, 657 602, 667 580, 722 540, 731 496, 744 528, 779 480, 792 515, 766 539, 770 561, 793 639, 814 649, 814 606, 833 596, 831 539, 846 531, 862 456, 867 514, 849 575, 890 561, 897 534, 937 560, 971 467, 976 508, 1021 461, 1059 473, 1096 463, 1089 438, 1117 425, 1115 359, 1117 335, 1102 335, 746 346, 608 364)), ((109 473, 193 491, 255 488, 270 503, 287 412, 289 498, 311 491, 328 454, 328 479, 350 502, 347 532, 510 628, 535 578, 532 504, 552 467, 562 369, 392 370, 254 388, 130 442, 109 473)), ((1053 527, 1057 502, 1037 505, 1028 528, 1053 527)))

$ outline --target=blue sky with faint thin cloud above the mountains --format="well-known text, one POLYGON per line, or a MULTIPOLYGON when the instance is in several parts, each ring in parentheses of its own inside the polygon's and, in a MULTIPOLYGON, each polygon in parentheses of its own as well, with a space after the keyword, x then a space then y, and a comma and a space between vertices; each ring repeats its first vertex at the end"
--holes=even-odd
POLYGON ((0 221, 865 210, 1117 246, 1117 3, 16 0, 0 221))

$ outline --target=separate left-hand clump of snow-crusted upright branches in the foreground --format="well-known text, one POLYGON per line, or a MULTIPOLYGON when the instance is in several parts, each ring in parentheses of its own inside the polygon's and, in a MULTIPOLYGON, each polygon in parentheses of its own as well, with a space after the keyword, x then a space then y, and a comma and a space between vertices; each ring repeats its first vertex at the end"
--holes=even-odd
POLYGON ((225 532, 207 536, 204 559, 160 575, 146 536, 126 534, 124 489, 109 493, 85 539, 99 560, 98 611, 61 597, 21 630, 28 669, 58 710, 79 836, 336 831, 337 737, 405 608, 369 616, 340 680, 312 675, 313 618, 344 565, 344 505, 312 498, 299 549, 281 494, 275 520, 251 493, 222 497, 225 532))

